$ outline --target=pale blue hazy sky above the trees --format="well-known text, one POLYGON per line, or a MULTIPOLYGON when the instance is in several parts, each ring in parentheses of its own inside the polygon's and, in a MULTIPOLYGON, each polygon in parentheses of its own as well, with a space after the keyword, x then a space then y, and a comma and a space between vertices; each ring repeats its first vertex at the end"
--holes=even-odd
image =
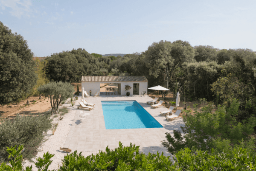
POLYGON ((256 0, 0 0, 35 56, 134 53, 160 40, 256 51, 256 0))

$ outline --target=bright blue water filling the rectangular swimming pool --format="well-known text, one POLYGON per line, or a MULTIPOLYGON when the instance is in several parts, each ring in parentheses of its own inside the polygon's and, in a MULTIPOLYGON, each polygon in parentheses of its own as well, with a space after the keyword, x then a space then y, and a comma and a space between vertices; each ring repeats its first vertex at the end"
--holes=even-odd
POLYGON ((163 128, 137 101, 102 101, 106 129, 163 128))

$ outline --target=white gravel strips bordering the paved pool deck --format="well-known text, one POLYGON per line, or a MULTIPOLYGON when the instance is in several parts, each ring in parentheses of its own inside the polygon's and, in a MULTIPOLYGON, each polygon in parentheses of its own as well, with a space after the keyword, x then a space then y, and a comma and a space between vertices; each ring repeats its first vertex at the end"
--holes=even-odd
MULTIPOLYGON (((69 100, 70 99, 68 99, 67 101, 69 100)), ((78 101, 75 101, 75 104, 78 105, 78 103, 79 103, 78 101)), ((61 121, 59 121, 58 117, 53 118, 52 123, 58 123, 58 127, 54 135, 52 135, 51 130, 48 130, 47 136, 45 137, 46 141, 41 144, 41 146, 38 148, 38 151, 39 151, 38 154, 36 155, 36 157, 32 159, 32 161, 36 162, 36 159, 38 157, 43 158, 44 153, 47 153, 47 151, 49 151, 49 154, 55 154, 54 157, 51 158, 52 164, 49 166, 48 168, 49 170, 53 170, 53 169, 58 170, 62 165, 62 160, 64 159, 64 156, 67 155, 66 152, 60 150, 60 147, 64 147, 67 135, 69 133, 70 127, 72 125, 74 116, 76 115, 76 111, 77 111, 77 110, 71 110, 74 107, 71 107, 70 104, 64 104, 61 107, 67 107, 68 109, 70 109, 69 113, 66 113, 64 115, 64 118, 61 121)), ((145 154, 148 154, 148 152, 157 154, 157 151, 160 151, 160 154, 163 151, 165 156, 170 156, 167 149, 164 147, 140 148, 140 153, 143 152, 145 154)), ((97 154, 97 153, 99 153, 99 151, 86 151, 86 152, 82 152, 82 155, 86 157, 91 154, 97 154)), ((38 171, 38 169, 35 167, 35 163, 29 162, 28 160, 25 160, 23 162, 24 168, 26 166, 31 166, 31 165, 32 165, 33 171, 38 171)))

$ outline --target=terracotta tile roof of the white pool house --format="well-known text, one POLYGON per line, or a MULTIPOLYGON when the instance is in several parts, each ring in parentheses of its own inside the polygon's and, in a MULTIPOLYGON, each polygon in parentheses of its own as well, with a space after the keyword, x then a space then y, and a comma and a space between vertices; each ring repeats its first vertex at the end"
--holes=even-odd
POLYGON ((145 76, 82 76, 83 82, 148 81, 145 76))

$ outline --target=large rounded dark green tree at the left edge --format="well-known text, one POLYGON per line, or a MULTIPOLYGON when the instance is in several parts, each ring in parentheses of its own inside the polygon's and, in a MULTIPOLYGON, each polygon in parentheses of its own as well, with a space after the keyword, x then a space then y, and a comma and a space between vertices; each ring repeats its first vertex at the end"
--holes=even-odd
POLYGON ((0 104, 19 101, 36 84, 33 53, 20 34, 0 22, 0 104))

